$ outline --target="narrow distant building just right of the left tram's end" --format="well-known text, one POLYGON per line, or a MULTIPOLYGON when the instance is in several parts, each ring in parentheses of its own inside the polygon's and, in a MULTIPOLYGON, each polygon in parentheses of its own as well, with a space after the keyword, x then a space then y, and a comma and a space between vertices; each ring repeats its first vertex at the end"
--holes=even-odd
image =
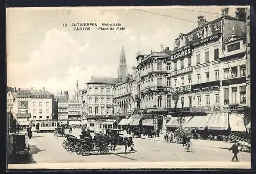
POLYGON ((69 100, 66 95, 58 95, 56 98, 58 102, 58 120, 60 120, 63 125, 66 125, 69 120, 69 100))

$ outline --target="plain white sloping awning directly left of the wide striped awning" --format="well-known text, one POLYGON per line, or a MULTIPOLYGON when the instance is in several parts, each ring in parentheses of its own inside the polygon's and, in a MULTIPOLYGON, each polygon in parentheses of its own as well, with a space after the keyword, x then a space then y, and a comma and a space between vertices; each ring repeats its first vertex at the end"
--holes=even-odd
POLYGON ((204 128, 208 126, 207 116, 194 116, 191 118, 184 127, 197 129, 197 130, 204 130, 204 128))

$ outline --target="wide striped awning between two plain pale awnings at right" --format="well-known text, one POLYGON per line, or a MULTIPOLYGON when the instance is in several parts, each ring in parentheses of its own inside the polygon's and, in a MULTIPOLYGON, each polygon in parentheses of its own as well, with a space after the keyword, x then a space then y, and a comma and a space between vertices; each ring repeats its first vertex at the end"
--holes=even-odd
POLYGON ((228 129, 228 112, 207 113, 208 129, 210 130, 227 130, 228 129))

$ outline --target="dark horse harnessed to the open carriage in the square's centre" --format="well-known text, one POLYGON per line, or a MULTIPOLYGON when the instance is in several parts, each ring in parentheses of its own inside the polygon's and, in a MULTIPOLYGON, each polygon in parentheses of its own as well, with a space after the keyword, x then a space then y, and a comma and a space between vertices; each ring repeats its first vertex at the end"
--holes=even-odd
POLYGON ((127 137, 127 138, 123 138, 121 136, 118 136, 118 137, 115 137, 114 139, 112 139, 112 149, 113 151, 115 152, 115 148, 117 145, 124 145, 125 146, 125 155, 127 154, 127 146, 128 147, 131 147, 131 151, 134 150, 133 148, 133 145, 134 145, 134 142, 133 142, 133 137, 127 137))

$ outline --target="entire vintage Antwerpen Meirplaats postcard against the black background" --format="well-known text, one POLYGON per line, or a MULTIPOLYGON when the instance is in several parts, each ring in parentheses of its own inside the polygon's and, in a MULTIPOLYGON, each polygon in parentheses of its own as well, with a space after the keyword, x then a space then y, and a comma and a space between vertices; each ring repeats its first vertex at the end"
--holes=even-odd
POLYGON ((7 8, 8 169, 251 168, 249 6, 7 8))

